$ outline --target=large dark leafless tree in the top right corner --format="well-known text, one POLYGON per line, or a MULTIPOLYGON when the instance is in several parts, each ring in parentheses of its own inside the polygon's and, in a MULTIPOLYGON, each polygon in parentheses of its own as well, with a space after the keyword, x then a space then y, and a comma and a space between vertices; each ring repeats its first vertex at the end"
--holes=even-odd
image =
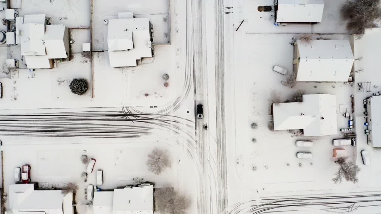
POLYGON ((363 34, 366 28, 377 27, 375 21, 381 18, 380 0, 348 0, 341 6, 340 14, 347 21, 347 30, 363 34))

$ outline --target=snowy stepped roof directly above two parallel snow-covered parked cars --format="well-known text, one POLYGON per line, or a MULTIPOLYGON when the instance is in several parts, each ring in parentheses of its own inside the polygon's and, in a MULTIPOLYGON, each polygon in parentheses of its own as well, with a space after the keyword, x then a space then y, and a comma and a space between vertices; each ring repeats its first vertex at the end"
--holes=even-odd
POLYGON ((337 134, 335 95, 304 94, 303 102, 273 104, 273 113, 274 130, 303 129, 304 136, 337 134))

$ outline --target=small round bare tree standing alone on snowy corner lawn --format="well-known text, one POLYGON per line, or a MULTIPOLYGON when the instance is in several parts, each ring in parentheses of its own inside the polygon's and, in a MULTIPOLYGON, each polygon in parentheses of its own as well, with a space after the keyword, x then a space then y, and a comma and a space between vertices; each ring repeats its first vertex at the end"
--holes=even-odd
POLYGON ((166 150, 155 148, 148 154, 148 160, 146 161, 148 170, 160 175, 165 168, 171 167, 171 161, 166 150))

